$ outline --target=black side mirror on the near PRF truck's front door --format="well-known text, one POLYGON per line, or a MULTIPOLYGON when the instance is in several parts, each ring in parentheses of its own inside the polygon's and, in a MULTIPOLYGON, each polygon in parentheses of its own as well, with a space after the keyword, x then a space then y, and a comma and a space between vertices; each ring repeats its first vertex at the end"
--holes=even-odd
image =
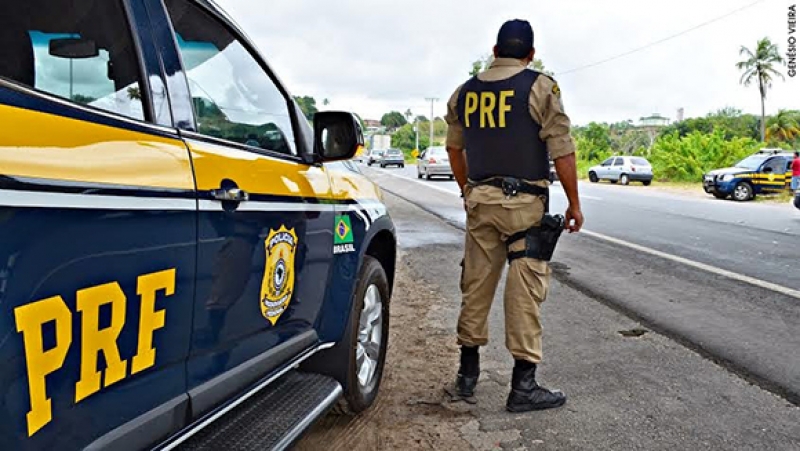
POLYGON ((358 119, 343 111, 314 115, 314 155, 317 161, 349 160, 364 145, 358 119))

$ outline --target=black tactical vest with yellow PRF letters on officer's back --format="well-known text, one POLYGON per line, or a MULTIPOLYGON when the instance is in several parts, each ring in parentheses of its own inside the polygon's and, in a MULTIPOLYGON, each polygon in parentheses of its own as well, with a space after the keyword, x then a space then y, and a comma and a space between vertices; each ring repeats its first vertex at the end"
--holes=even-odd
POLYGON ((457 110, 471 180, 549 177, 547 144, 539 137, 542 126, 531 117, 528 105, 538 76, 525 69, 506 80, 473 77, 461 88, 457 110))

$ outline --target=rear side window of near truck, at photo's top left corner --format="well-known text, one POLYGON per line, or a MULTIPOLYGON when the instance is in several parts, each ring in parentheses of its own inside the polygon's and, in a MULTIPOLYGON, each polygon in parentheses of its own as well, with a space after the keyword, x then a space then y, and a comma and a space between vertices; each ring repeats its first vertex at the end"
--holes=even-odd
POLYGON ((144 120, 133 38, 121 1, 9 0, 0 77, 144 120))

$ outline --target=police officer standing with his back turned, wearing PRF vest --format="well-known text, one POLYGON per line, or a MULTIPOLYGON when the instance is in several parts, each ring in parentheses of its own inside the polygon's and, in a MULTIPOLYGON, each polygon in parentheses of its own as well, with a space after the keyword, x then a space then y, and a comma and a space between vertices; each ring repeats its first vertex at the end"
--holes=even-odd
POLYGON ((465 399, 474 394, 478 349, 488 342, 489 309, 509 261, 506 347, 515 363, 506 408, 525 412, 566 401, 560 391, 536 382, 542 359, 539 307, 547 296, 550 268, 529 252, 524 239, 535 233, 549 205, 550 159, 569 200, 564 228, 578 232, 583 214, 575 145, 558 85, 527 69, 534 56, 531 25, 522 20, 503 24, 494 56, 491 67, 460 86, 447 105, 447 151, 467 211, 458 318, 461 364, 454 389, 465 399))

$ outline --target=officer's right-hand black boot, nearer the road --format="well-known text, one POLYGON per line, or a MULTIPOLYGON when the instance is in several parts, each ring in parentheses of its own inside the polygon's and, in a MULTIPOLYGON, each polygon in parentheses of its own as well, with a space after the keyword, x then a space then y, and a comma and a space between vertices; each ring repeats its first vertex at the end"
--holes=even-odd
POLYGON ((536 383, 536 364, 517 360, 511 376, 511 393, 506 401, 509 412, 529 412, 531 410, 561 407, 567 401, 560 391, 550 391, 536 383))

